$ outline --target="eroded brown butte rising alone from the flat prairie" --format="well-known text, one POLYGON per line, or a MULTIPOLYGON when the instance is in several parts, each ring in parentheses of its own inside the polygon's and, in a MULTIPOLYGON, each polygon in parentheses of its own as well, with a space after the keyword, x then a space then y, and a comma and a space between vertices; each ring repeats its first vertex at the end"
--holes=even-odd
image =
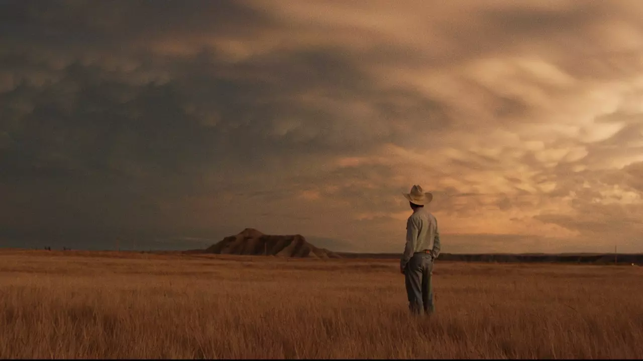
POLYGON ((296 258, 341 258, 335 252, 308 243, 301 234, 276 236, 263 234, 252 228, 246 228, 239 234, 223 238, 203 252, 296 258))

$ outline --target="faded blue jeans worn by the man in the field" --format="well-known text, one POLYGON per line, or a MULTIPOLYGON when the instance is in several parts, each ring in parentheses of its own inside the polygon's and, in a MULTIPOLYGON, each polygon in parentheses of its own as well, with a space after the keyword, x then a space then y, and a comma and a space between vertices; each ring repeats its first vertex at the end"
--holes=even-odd
POLYGON ((408 295, 408 308, 413 313, 435 311, 431 272, 433 272, 433 260, 428 253, 415 253, 406 263, 406 269, 404 269, 406 295, 408 295))

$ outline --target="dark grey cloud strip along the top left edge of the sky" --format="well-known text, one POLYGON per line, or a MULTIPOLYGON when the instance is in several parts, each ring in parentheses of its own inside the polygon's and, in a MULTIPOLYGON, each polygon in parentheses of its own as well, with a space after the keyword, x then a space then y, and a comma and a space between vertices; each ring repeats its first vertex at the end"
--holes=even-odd
POLYGON ((145 42, 185 39, 203 33, 255 36, 273 21, 239 1, 3 1, 1 30, 5 44, 18 49, 86 53, 145 49, 145 42))

